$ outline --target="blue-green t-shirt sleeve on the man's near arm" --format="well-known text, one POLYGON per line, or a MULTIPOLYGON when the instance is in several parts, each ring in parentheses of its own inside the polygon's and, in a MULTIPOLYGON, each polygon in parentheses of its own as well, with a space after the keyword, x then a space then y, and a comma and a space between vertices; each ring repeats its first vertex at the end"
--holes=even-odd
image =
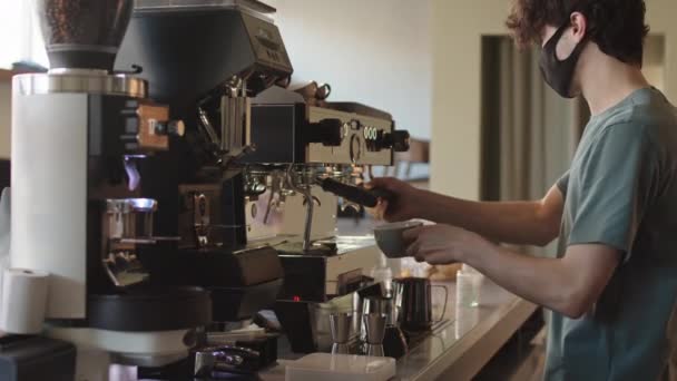
POLYGON ((627 261, 648 207, 656 157, 644 126, 619 124, 600 131, 571 172, 577 189, 568 245, 608 245, 627 261))

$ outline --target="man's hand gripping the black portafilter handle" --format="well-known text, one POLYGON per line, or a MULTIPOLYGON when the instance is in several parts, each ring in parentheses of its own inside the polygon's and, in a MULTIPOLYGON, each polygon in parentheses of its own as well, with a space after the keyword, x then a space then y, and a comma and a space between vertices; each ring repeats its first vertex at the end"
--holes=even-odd
POLYGON ((393 199, 382 199, 374 208, 376 218, 400 222, 421 217, 416 205, 420 205, 423 190, 392 177, 375 178, 366 184, 366 187, 380 188, 393 194, 393 199))

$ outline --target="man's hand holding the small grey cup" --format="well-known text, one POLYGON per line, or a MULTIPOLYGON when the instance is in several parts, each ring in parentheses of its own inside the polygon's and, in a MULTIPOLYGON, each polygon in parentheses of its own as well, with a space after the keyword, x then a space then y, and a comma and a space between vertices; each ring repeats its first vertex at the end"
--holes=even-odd
POLYGON ((422 226, 405 231, 406 254, 419 262, 450 264, 465 262, 491 244, 483 237, 450 225, 422 226))

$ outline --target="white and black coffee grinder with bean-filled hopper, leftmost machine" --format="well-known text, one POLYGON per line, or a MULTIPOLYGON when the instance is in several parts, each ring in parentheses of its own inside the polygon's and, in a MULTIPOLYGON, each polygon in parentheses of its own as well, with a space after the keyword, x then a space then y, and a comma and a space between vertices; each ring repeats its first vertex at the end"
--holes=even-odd
MULTIPOLYGON (((20 370, 13 377, 49 373, 36 364, 66 353, 55 343, 75 345, 77 359, 62 359, 49 379, 106 380, 114 363, 181 361, 212 321, 209 294, 154 285, 140 253, 179 241, 155 229, 164 205, 147 196, 144 166, 185 138, 185 124, 148 96, 146 80, 114 70, 131 0, 39 0, 36 9, 50 69, 12 82, 11 266, 49 274, 46 323, 7 332, 18 335, 3 338, 3 364, 20 370)), ((11 301, 20 293, 4 296, 21 304, 11 301)))

